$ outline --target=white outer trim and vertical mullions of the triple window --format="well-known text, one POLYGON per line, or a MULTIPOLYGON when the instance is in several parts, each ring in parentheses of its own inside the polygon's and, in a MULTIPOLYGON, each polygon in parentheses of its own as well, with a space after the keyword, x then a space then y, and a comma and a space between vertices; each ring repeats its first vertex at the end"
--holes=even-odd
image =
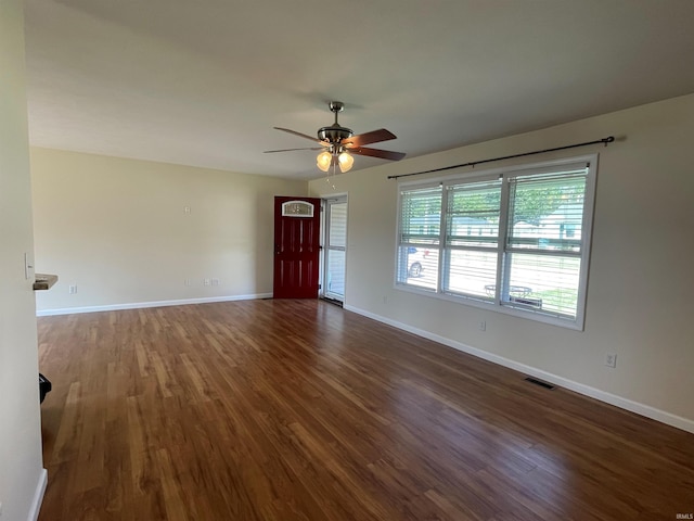
MULTIPOLYGON (((394 288, 399 291, 404 291, 422 296, 428 296, 447 302, 453 302, 457 304, 467 305, 486 309, 489 312, 501 313, 504 315, 511 315, 519 318, 535 320, 539 322, 560 326, 568 329, 583 331, 586 322, 586 307, 588 302, 588 281, 590 275, 590 259, 591 259, 591 243, 593 234, 593 215, 595 208, 595 190, 597 183, 597 169, 599 169, 599 154, 587 154, 580 156, 571 156, 565 158, 557 158, 552 161, 545 161, 541 163, 530 164, 515 164, 507 165, 498 168, 481 170, 481 171, 465 171, 465 167, 454 170, 446 176, 436 178, 427 178, 426 180, 404 180, 397 185, 397 219, 396 219, 396 241, 395 241, 395 271, 394 271, 394 288), (510 190, 506 187, 509 179, 536 175, 543 170, 555 170, 557 168, 566 167, 569 165, 576 165, 580 163, 588 164, 588 173, 586 175, 586 190, 584 201, 582 208, 581 219, 581 253, 577 255, 577 258, 581 259, 579 270, 579 282, 577 287, 577 309, 576 318, 565 318, 557 315, 551 315, 534 310, 530 308, 523 308, 520 306, 510 306, 507 303, 501 301, 501 293, 494 294, 492 301, 485 301, 481 298, 475 298, 472 295, 462 295, 458 293, 447 292, 442 289, 445 277, 445 256, 449 250, 446 239, 446 206, 448 204, 448 196, 446 192, 447 186, 455 185, 458 182, 476 182, 484 180, 502 179, 501 190, 501 208, 499 221, 507 223, 510 211, 510 190), (426 189, 436 186, 441 187, 441 213, 440 213, 440 236, 439 236, 439 257, 438 257, 438 274, 436 289, 422 288, 420 285, 407 284, 399 282, 398 280, 398 260, 400 255, 400 230, 402 219, 402 192, 413 189, 426 189)), ((499 245, 497 253, 499 254, 500 263, 503 263, 506 258, 506 252, 509 246, 506 245, 507 239, 507 225, 500 226, 499 230, 499 245)), ((527 252, 518 252, 527 253, 527 252)), ((504 274, 509 270, 503 269, 503 265, 499 264, 497 267, 497 284, 502 283, 504 274)), ((498 285, 499 287, 499 285, 498 285)))

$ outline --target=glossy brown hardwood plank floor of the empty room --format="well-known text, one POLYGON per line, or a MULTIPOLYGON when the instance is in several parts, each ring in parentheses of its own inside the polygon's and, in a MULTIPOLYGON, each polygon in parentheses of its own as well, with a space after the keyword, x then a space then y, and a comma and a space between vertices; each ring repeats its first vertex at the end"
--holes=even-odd
POLYGON ((694 435, 323 302, 38 321, 41 521, 694 512, 694 435))

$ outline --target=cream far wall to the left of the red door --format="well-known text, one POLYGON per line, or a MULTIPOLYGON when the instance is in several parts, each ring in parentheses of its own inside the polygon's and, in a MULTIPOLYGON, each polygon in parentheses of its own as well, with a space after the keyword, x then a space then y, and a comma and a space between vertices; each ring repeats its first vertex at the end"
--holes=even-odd
POLYGON ((267 296, 273 196, 307 192, 306 181, 48 149, 31 149, 31 177, 36 268, 60 278, 37 294, 39 315, 267 296))

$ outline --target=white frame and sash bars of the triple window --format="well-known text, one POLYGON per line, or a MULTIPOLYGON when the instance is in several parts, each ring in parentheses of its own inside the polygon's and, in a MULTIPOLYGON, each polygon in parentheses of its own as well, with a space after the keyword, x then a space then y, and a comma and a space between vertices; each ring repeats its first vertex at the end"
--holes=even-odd
MULTIPOLYGON (((397 290, 415 293, 419 295, 426 295, 433 298, 438 298, 448 302, 455 302, 458 304, 470 305, 494 313, 501 313, 505 315, 512 315, 530 320, 536 320, 544 323, 551 323, 554 326, 561 326, 568 329, 575 329, 582 331, 586 321, 586 305, 588 293, 588 280, 590 271, 590 257, 591 257, 591 242, 593 233, 593 214, 595 206, 595 189, 597 180, 597 163, 599 154, 588 154, 580 156, 573 156, 553 161, 545 161, 541 163, 532 164, 515 164, 509 166, 502 166, 499 168, 492 168, 480 171, 464 171, 463 168, 453 171, 444 177, 427 178, 426 180, 403 180, 398 182, 398 203, 397 203, 397 227, 396 227, 396 244, 395 244, 395 274, 394 274, 394 287, 397 290), (580 165, 587 167, 586 174, 586 188, 583 192, 583 207, 581 215, 581 233, 580 233, 580 252, 578 254, 566 254, 557 252, 555 257, 575 257, 580 259, 580 268, 578 270, 579 279, 577 284, 577 306, 576 316, 569 317, 561 315, 558 312, 548 312, 534 308, 530 305, 524 306, 523 303, 511 303, 502 298, 502 291, 504 287, 507 290, 510 284, 509 278, 511 274, 510 267, 506 263, 510 263, 510 258, 513 254, 538 254, 536 250, 527 250, 513 247, 507 243, 510 219, 509 213, 512 209, 510 192, 511 192, 511 179, 519 179, 523 177, 537 176, 542 173, 560 171, 562 168, 580 167, 580 165), (496 271, 496 288, 500 290, 494 291, 493 298, 475 297, 474 295, 464 294, 461 292, 445 290, 445 283, 447 274, 450 274, 450 269, 447 269, 447 258, 450 257, 450 253, 454 251, 463 251, 463 247, 454 247, 448 243, 448 224, 447 224, 447 205, 448 205, 448 187, 457 185, 466 185, 481 181, 493 181, 501 179, 501 198, 500 198, 500 212, 499 212, 499 232, 498 244, 496 246, 496 254, 498 255, 497 271, 496 271), (402 203, 403 192, 417 189, 430 189, 435 186, 441 187, 441 211, 440 211, 440 226, 439 226, 439 240, 438 240, 438 272, 436 274, 436 288, 423 288, 421 285, 407 283, 407 277, 403 278, 403 274, 399 271, 401 262, 401 247, 406 245, 401 241, 401 227, 402 227, 402 203)), ((474 249, 471 249, 471 251, 474 249)), ((539 255, 551 255, 551 253, 540 252, 539 255)))

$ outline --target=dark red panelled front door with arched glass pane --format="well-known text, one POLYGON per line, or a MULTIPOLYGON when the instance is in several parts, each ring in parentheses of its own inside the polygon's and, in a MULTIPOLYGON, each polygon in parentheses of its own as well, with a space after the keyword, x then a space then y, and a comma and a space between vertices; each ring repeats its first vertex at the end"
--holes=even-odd
POLYGON ((321 200, 274 198, 274 298, 317 298, 321 200))

